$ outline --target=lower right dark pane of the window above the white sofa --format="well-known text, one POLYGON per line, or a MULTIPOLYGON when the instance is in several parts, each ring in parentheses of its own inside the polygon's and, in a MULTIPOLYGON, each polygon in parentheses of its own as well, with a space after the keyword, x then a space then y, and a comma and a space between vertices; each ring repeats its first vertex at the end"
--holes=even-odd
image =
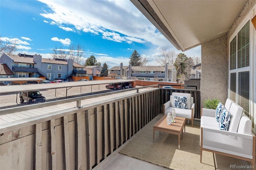
POLYGON ((244 113, 249 116, 249 90, 250 90, 250 72, 238 73, 238 105, 244 108, 244 113))

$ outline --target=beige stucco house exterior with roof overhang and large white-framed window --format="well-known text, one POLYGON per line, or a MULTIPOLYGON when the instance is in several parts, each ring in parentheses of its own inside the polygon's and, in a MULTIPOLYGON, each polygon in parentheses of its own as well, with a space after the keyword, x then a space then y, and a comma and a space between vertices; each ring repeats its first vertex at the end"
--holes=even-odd
POLYGON ((256 132, 256 1, 131 2, 178 50, 201 45, 202 107, 232 99, 256 132))

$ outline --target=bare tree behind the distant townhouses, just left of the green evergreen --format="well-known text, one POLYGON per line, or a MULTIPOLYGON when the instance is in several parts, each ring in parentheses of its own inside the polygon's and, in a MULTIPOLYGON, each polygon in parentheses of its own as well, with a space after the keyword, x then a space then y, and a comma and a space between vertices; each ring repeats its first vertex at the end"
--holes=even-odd
POLYGON ((160 65, 165 65, 166 63, 169 63, 169 65, 174 65, 175 59, 177 57, 177 54, 175 51, 167 51, 166 49, 163 49, 161 52, 161 55, 156 57, 156 62, 160 65))

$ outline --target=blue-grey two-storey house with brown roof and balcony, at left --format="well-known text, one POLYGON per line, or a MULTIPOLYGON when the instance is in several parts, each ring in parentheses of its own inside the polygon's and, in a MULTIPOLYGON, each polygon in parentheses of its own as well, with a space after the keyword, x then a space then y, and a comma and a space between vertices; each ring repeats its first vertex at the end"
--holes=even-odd
POLYGON ((7 55, 0 57, 1 63, 6 65, 14 73, 14 77, 46 77, 54 79, 67 79, 74 74, 74 69, 83 68, 82 65, 73 62, 72 59, 42 58, 42 55, 7 55))

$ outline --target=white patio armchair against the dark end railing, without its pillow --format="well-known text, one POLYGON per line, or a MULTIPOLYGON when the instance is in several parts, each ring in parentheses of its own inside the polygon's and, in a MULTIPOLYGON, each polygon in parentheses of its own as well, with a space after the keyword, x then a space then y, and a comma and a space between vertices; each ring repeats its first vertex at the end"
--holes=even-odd
POLYGON ((176 116, 177 117, 184 117, 188 120, 191 120, 191 124, 193 127, 193 120, 194 120, 194 115, 195 115, 195 103, 194 103, 194 98, 191 97, 190 93, 176 93, 173 92, 172 95, 170 96, 170 101, 164 103, 164 115, 167 115, 168 112, 171 112, 172 109, 175 109, 176 116), (174 96, 179 96, 179 97, 187 97, 187 109, 180 109, 180 108, 175 108, 174 107, 174 96))

